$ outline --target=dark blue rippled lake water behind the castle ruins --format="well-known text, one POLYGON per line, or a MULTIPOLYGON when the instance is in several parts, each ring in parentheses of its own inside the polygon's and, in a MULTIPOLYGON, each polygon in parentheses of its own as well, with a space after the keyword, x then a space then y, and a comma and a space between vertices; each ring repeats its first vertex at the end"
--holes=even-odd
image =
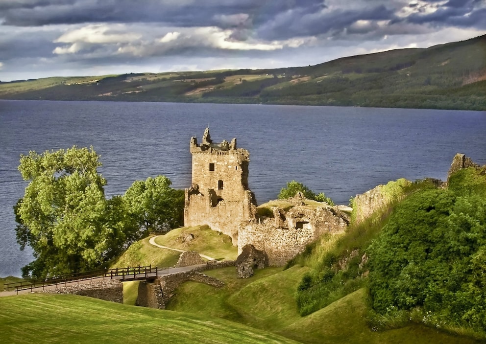
POLYGON ((0 276, 31 259, 15 239, 24 195, 20 154, 93 145, 107 196, 159 174, 191 183, 189 140, 209 124, 215 141, 250 151, 257 202, 291 180, 336 203, 390 180, 444 180, 458 152, 486 164, 486 113, 269 105, 0 101, 0 276))

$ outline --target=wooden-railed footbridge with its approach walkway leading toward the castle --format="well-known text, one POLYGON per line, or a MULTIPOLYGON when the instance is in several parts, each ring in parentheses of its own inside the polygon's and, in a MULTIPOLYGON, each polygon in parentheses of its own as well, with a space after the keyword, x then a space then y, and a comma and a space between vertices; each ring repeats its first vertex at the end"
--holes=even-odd
POLYGON ((158 270, 157 267, 136 266, 115 269, 102 269, 88 271, 78 274, 60 275, 56 277, 30 279, 21 282, 7 283, 3 286, 5 291, 13 291, 19 294, 20 291, 44 291, 66 287, 73 284, 91 283, 100 279, 118 279, 121 282, 147 280, 153 281, 159 274, 164 274, 167 269, 158 270))

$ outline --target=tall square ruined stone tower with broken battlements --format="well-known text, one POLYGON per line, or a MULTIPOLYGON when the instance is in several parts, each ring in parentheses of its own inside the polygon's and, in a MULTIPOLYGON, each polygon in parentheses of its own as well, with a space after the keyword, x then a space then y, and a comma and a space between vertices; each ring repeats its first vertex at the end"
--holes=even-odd
POLYGON ((206 128, 202 143, 191 138, 192 185, 186 189, 184 226, 208 225, 238 241, 242 221, 255 219, 255 196, 248 188, 246 149, 236 147, 236 138, 214 143, 206 128))

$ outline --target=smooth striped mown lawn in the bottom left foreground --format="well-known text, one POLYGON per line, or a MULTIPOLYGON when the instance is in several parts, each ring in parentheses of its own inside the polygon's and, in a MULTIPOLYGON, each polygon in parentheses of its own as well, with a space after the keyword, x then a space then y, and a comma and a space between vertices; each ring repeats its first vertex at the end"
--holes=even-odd
POLYGON ((2 343, 297 343, 222 319, 72 295, 0 298, 2 343))

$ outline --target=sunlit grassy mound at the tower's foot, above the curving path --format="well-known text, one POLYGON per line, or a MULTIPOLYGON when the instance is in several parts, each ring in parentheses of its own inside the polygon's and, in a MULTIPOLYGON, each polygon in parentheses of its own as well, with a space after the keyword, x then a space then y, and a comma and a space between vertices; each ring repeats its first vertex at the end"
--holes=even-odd
POLYGON ((231 238, 208 226, 172 229, 165 235, 157 236, 155 242, 174 249, 197 251, 217 260, 235 260, 238 256, 238 248, 233 246, 231 238), (189 234, 192 234, 194 239, 183 242, 182 237, 189 234))

